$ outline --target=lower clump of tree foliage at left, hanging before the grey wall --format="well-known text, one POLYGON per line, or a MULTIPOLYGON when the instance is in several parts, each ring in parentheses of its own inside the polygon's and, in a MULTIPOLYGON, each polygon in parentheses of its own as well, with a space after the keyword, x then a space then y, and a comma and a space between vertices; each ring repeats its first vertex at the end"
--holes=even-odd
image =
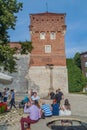
POLYGON ((17 58, 13 56, 14 53, 15 49, 10 48, 8 45, 0 45, 0 66, 10 73, 16 71, 17 58))

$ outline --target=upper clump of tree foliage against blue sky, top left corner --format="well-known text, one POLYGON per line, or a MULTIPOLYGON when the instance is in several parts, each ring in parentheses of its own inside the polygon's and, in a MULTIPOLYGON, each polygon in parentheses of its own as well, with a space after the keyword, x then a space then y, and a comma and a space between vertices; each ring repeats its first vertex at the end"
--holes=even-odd
POLYGON ((15 29, 16 13, 22 9, 22 3, 17 0, 0 0, 0 44, 9 41, 8 29, 15 29))

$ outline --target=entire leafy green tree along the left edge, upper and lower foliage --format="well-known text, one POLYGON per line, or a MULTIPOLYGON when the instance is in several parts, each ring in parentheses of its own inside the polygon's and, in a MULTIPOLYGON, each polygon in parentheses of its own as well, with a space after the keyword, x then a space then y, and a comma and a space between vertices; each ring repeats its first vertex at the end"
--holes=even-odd
POLYGON ((16 70, 15 49, 9 43, 9 29, 15 29, 18 13, 22 10, 22 3, 17 0, 0 0, 0 66, 9 72, 16 70))

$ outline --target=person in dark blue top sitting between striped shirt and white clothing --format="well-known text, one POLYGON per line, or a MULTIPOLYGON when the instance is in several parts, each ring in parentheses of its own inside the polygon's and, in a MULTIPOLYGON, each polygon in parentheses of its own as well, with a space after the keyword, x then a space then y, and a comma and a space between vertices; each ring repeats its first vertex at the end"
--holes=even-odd
POLYGON ((59 115, 59 104, 57 103, 56 99, 53 100, 52 106, 52 115, 57 116, 59 115))

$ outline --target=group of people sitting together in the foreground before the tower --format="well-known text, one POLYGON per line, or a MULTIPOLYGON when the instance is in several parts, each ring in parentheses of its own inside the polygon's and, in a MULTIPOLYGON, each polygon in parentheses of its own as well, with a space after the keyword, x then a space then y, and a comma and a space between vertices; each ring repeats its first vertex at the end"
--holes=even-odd
MULTIPOLYGON (((52 93, 50 93, 50 95, 51 94, 52 93)), ((37 92, 33 92, 29 101, 25 103, 24 113, 28 113, 29 116, 21 118, 21 130, 24 130, 25 122, 28 124, 28 129, 30 130, 30 124, 38 122, 41 118, 45 119, 45 117, 51 116, 71 115, 71 106, 68 99, 64 100, 64 94, 60 89, 56 90, 56 94, 52 99, 51 104, 41 101, 37 92), (64 103, 62 101, 64 101, 64 103)), ((63 125, 64 123, 65 120, 62 120, 61 124, 63 125)))

